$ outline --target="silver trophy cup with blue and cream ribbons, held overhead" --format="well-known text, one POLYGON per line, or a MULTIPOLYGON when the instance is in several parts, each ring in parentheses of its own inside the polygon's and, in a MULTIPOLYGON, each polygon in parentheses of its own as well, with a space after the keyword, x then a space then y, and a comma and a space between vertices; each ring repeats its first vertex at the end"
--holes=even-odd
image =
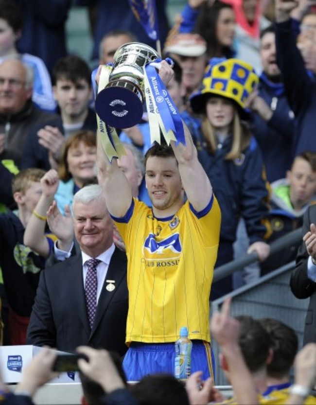
POLYGON ((98 89, 95 89, 95 109, 98 136, 110 161, 125 154, 115 128, 130 128, 140 123, 144 102, 151 142, 160 143, 161 131, 168 145, 171 141, 185 143, 180 114, 154 67, 159 62, 161 59, 153 48, 130 42, 116 51, 113 66, 102 66, 98 89))

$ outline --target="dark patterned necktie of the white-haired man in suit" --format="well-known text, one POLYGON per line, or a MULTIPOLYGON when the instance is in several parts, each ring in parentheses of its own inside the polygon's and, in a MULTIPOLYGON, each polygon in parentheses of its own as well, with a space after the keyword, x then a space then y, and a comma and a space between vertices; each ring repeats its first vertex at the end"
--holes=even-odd
POLYGON ((88 320, 91 329, 95 313, 97 310, 97 288, 98 288, 97 265, 100 262, 101 260, 98 259, 89 259, 86 262, 88 266, 88 272, 86 276, 85 294, 88 311, 88 320))

